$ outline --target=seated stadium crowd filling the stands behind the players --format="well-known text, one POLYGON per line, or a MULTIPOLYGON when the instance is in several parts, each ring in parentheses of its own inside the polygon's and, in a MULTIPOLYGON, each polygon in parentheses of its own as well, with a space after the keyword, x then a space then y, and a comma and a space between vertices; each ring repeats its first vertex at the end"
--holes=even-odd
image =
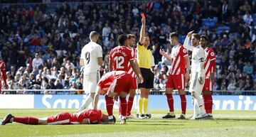
POLYGON ((1 9, 0 52, 7 83, 9 89, 21 89, 3 94, 30 94, 22 89, 82 89, 79 60, 90 31, 101 35, 103 74, 109 71, 108 53, 117 45, 117 35, 139 37, 142 11, 156 64, 154 89, 165 89, 170 62, 159 50, 171 53, 169 33, 178 32, 183 43, 188 31, 194 30, 208 35, 208 46, 216 53, 213 91, 256 90, 255 0, 78 2, 56 5, 51 13, 42 6, 1 9))

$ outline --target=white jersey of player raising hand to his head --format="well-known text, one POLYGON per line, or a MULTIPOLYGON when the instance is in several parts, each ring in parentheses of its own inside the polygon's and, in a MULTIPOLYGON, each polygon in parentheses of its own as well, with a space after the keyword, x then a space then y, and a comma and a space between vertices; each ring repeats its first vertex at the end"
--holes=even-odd
POLYGON ((198 72, 199 77, 205 77, 205 71, 204 71, 204 62, 206 62, 205 52, 201 47, 201 45, 193 47, 191 45, 188 45, 188 41, 189 41, 189 38, 186 38, 183 46, 184 48, 192 51, 191 72, 192 73, 198 72))

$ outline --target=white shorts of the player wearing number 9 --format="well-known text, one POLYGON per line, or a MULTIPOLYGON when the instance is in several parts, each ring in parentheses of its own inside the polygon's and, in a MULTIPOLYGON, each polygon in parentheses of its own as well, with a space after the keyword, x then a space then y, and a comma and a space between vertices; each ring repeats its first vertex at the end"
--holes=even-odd
POLYGON ((85 93, 95 93, 97 82, 99 81, 100 81, 100 72, 84 74, 82 89, 85 91, 85 93))

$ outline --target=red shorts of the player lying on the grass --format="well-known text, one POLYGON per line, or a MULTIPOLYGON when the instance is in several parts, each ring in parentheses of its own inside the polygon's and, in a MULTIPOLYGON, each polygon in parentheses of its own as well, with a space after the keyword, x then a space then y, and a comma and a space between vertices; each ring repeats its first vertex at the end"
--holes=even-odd
POLYGON ((78 117, 75 114, 68 112, 61 112, 55 116, 49 116, 47 119, 48 125, 67 125, 67 124, 79 124, 78 117))

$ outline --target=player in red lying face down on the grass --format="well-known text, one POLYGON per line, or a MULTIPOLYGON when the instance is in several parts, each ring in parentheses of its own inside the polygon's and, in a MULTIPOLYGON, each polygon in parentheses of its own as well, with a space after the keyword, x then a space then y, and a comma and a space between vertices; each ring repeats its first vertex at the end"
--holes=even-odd
MULTIPOLYGON (((33 116, 12 116, 7 114, 1 125, 12 122, 29 125, 107 124, 108 117, 101 110, 85 109, 79 113, 60 112, 55 116, 36 118, 33 116)), ((114 118, 115 122, 115 118, 114 118)))

